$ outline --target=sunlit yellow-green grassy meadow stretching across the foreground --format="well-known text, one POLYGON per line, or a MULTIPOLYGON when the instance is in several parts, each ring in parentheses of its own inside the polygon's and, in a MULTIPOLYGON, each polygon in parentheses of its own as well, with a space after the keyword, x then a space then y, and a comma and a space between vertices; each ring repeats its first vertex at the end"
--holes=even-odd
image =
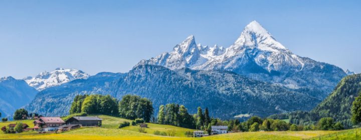
MULTIPOLYGON (((193 138, 185 137, 186 131, 193 131, 192 129, 147 123, 147 133, 138 132, 138 126, 127 126, 117 128, 122 121, 131 121, 119 117, 112 117, 107 115, 99 115, 103 119, 102 127, 83 127, 75 130, 70 130, 63 133, 46 133, 39 134, 37 132, 22 132, 16 134, 5 134, 0 132, 0 139, 361 139, 361 128, 341 130, 341 131, 259 131, 259 132, 238 132, 212 135, 207 137, 193 138), (167 131, 174 129, 176 136, 160 136, 154 135, 153 131, 167 131), (357 133, 357 136, 356 136, 357 133)), ((20 121, 0 122, 0 126, 8 125, 9 123, 16 123, 20 121)), ((33 120, 22 120, 31 127, 34 126, 33 120)))

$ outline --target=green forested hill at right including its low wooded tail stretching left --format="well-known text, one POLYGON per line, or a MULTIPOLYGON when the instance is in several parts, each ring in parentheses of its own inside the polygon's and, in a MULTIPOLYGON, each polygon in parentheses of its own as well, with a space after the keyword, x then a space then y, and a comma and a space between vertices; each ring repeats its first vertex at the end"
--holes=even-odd
POLYGON ((340 121, 346 128, 352 126, 351 106, 358 93, 361 92, 361 74, 352 74, 344 77, 321 103, 311 111, 295 111, 275 114, 271 118, 289 118, 291 123, 316 122, 322 117, 332 117, 340 121))

